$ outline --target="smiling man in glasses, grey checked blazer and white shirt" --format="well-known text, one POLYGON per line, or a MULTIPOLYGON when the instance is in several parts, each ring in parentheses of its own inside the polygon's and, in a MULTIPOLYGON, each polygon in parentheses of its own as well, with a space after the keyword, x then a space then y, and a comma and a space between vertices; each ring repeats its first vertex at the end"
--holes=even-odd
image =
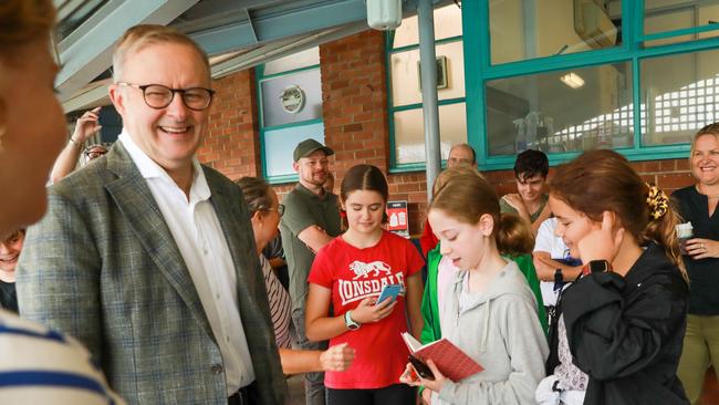
POLYGON ((186 35, 119 40, 118 142, 50 189, 19 264, 21 315, 81 340, 129 404, 283 404, 241 191, 195 158, 213 92, 186 35))

